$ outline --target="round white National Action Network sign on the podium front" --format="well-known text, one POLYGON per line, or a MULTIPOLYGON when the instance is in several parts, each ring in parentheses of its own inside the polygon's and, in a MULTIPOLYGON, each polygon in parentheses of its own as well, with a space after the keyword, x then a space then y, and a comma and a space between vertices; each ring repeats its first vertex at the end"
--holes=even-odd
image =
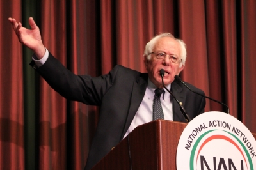
POLYGON ((256 169, 256 141, 241 121, 224 112, 194 118, 180 136, 177 169, 256 169))

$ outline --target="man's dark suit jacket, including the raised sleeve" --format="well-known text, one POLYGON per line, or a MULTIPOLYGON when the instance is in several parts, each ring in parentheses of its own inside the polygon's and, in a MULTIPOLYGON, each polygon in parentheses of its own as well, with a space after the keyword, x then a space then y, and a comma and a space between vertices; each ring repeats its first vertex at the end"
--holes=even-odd
MULTIPOLYGON (((148 74, 117 65, 108 74, 100 77, 77 76, 50 53, 44 65, 36 70, 54 90, 68 100, 100 105, 99 122, 85 167, 91 169, 112 147, 122 141, 145 95, 148 74)), ((191 84, 188 86, 204 95, 202 90, 191 84)), ((171 89, 173 95, 183 103, 191 119, 204 112, 205 98, 191 93, 176 81, 172 82, 171 89)), ((186 122, 175 101, 173 119, 186 122)))

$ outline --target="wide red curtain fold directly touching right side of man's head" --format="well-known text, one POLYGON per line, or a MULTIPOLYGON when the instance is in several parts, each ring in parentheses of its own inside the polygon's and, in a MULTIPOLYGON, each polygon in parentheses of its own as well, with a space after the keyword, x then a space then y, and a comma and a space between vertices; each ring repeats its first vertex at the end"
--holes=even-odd
MULTIPOLYGON (((200 1, 179 1, 179 35, 187 45, 186 65, 182 79, 204 89, 209 95, 209 72, 207 66, 207 36, 205 29, 205 3, 200 1), (192 36, 193 35, 193 36, 192 36), (191 74, 193 72, 193 74, 191 74), (204 80, 204 81, 200 81, 204 80)), ((206 100, 205 111, 209 108, 206 100)))

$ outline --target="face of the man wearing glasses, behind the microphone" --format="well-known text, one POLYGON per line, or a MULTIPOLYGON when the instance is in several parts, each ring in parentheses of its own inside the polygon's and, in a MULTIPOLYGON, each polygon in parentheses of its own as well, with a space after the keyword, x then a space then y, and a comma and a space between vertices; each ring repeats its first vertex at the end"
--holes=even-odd
MULTIPOLYGON (((170 37, 159 38, 154 45, 152 52, 164 52, 165 54, 175 54, 180 58, 180 45, 179 42, 170 37)), ((143 56, 143 60, 148 71, 148 77, 157 88, 163 88, 160 70, 164 69, 164 86, 172 83, 174 76, 178 75, 184 68, 182 65, 179 68, 179 63, 172 63, 168 57, 165 59, 157 59, 155 54, 150 54, 151 60, 147 56, 143 56)))

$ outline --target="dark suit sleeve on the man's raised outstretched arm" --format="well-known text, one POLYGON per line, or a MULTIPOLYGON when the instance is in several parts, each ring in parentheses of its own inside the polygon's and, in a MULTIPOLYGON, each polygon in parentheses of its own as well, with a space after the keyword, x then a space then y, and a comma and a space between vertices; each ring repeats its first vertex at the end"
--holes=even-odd
POLYGON ((88 105, 100 105, 102 97, 111 88, 118 72, 118 66, 116 66, 108 74, 99 77, 75 75, 50 52, 44 65, 35 69, 61 96, 88 105))

